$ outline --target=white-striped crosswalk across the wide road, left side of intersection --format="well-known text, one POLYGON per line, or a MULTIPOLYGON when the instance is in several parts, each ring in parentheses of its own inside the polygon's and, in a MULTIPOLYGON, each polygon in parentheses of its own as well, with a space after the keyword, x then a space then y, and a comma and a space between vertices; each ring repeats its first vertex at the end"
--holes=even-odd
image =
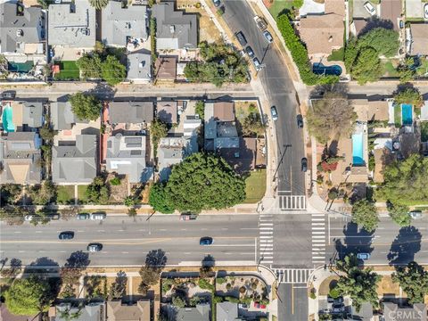
POLYGON ((274 263, 274 218, 269 214, 259 216, 259 264, 274 263))

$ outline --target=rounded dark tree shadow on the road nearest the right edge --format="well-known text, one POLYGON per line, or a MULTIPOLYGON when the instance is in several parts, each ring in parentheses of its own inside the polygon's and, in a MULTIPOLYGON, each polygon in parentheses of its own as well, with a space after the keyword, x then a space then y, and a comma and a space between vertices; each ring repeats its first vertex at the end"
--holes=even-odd
POLYGON ((415 254, 421 250, 421 241, 422 235, 415 226, 401 227, 387 255, 390 265, 406 265, 415 260, 415 254))

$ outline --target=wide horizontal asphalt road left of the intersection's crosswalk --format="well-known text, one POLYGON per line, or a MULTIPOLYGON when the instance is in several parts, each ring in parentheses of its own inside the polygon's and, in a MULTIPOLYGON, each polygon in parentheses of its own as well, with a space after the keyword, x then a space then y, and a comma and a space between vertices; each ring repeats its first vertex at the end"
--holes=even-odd
MULTIPOLYGON (((103 251, 90 253, 91 266, 139 266, 148 251, 166 252, 167 265, 200 265, 208 254, 218 265, 254 265, 257 259, 257 215, 203 215, 192 221, 178 216, 153 216, 136 220, 108 216, 104 221, 51 221, 42 226, 1 223, 1 259, 21 259, 29 265, 40 258, 60 266, 74 251, 86 251, 87 243, 103 243, 103 251), (62 231, 74 231, 73 240, 60 241, 62 231), (210 246, 199 245, 202 236, 211 236, 210 246)), ((40 265, 44 265, 43 261, 40 265)))

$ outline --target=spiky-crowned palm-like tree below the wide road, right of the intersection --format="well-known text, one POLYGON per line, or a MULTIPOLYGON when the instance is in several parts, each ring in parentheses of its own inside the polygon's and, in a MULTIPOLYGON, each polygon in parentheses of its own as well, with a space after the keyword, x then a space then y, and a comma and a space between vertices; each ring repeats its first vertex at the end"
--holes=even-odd
POLYGON ((375 274, 371 268, 358 268, 358 259, 355 255, 338 261, 336 266, 344 275, 340 277, 334 289, 342 296, 349 295, 357 311, 363 302, 370 302, 374 307, 379 306, 376 287, 381 276, 375 274))

